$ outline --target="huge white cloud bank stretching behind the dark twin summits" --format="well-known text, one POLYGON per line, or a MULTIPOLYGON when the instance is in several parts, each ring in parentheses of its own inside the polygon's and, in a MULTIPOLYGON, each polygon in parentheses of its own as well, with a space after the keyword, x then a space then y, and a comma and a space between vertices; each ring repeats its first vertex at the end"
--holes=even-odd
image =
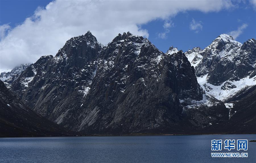
POLYGON ((127 31, 148 37, 142 24, 158 18, 169 20, 178 12, 218 12, 231 7, 231 1, 53 1, 7 35, 3 32, 0 69, 35 62, 42 55, 54 56, 68 39, 88 30, 107 44, 127 31))

